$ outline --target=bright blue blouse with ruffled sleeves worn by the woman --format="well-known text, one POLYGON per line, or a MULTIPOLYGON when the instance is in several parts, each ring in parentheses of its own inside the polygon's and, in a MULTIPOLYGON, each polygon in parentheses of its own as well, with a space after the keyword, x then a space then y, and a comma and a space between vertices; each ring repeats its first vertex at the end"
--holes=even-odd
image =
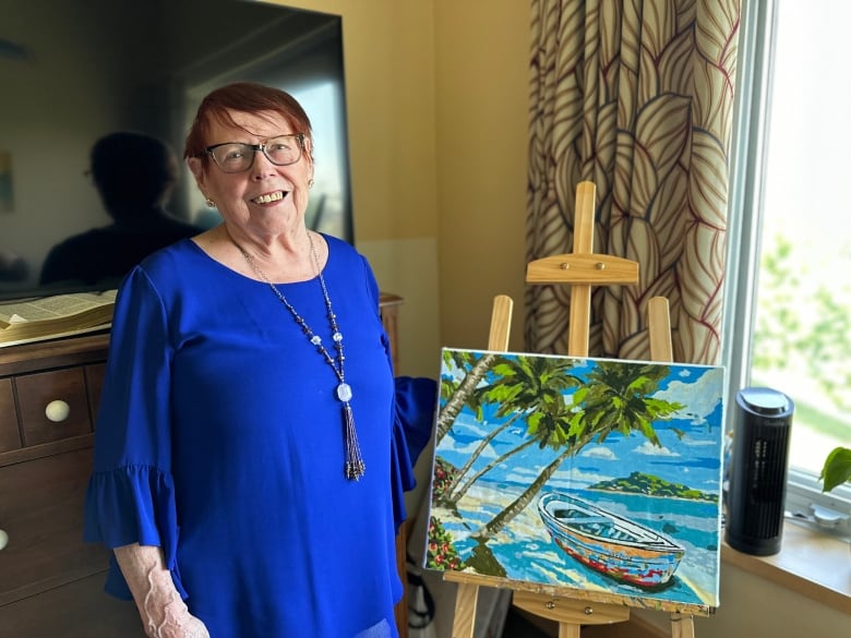
MULTIPOLYGON (((119 290, 85 539, 161 546, 212 638, 397 636, 395 533, 436 384, 394 378, 372 270, 325 239, 359 481, 337 377, 266 284, 183 240, 119 290)), ((319 278, 278 289, 333 353, 319 278)), ((107 591, 130 598, 115 559, 107 591)))

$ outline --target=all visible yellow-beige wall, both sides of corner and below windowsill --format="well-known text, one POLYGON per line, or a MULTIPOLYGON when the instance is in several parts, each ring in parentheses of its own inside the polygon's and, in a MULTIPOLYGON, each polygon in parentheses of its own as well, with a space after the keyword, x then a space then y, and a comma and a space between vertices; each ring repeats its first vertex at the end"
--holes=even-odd
MULTIPOLYGON (((530 3, 284 3, 344 19, 357 241, 408 299, 403 372, 434 374, 440 346, 484 347, 499 293, 515 300, 520 349, 530 3)), ((722 565, 721 606, 696 634, 841 636, 849 622, 722 565)))

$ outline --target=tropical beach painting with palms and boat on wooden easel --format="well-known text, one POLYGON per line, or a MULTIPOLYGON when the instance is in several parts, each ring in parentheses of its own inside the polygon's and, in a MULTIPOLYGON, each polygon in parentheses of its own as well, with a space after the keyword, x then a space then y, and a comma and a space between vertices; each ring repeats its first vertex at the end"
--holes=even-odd
POLYGON ((443 349, 424 566, 714 610, 723 376, 443 349))

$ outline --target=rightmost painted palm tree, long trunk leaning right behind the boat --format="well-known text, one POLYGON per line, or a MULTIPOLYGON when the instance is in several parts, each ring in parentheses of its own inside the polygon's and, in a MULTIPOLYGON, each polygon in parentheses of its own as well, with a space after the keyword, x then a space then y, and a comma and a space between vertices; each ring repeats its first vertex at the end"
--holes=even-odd
POLYGON ((654 445, 661 445, 654 422, 670 420, 684 408, 651 396, 668 373, 668 366, 658 364, 598 361, 588 373, 586 385, 573 395, 575 407, 567 422, 564 450, 476 537, 483 542, 499 533, 531 503, 567 457, 578 454, 595 438, 602 443, 612 432, 624 436, 636 432, 654 445))

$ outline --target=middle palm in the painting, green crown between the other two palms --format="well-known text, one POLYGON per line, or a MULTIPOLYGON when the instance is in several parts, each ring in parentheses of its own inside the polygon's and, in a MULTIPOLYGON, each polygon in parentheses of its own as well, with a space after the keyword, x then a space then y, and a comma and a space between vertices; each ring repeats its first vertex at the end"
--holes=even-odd
POLYGON ((478 388, 475 394, 480 404, 499 405, 494 420, 513 416, 479 442, 447 487, 444 505, 455 506, 482 474, 527 447, 538 444, 541 449, 548 446, 560 449, 566 443, 565 419, 568 416, 568 405, 564 393, 583 383, 580 378, 568 373, 574 364, 573 361, 553 357, 522 354, 501 358, 494 364, 491 383, 478 388), (520 418, 525 418, 527 441, 492 460, 467 481, 463 481, 488 445, 520 418))

